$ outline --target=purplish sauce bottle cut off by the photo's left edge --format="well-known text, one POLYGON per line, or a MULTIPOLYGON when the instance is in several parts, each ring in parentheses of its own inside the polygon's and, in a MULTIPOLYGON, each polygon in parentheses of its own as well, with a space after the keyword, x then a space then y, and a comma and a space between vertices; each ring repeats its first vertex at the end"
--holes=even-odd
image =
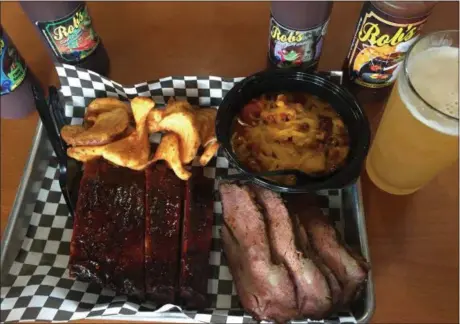
POLYGON ((0 25, 0 116, 20 119, 35 110, 33 76, 0 25))

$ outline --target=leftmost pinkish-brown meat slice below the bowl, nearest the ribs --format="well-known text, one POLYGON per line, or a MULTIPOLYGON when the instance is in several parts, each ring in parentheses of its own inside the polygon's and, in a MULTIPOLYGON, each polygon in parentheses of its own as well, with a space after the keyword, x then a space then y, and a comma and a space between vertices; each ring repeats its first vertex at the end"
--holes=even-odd
POLYGON ((242 306, 257 320, 296 318, 294 286, 284 265, 272 263, 264 219, 249 189, 223 183, 219 191, 223 247, 242 306))

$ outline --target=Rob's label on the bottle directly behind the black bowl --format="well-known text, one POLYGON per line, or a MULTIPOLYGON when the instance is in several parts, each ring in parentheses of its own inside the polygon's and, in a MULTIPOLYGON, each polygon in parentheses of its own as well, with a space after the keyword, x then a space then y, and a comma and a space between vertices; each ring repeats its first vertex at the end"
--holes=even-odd
POLYGON ((294 30, 282 26, 270 17, 268 57, 277 67, 310 65, 319 60, 329 20, 307 30, 294 30), (310 64, 309 64, 310 63, 310 64))

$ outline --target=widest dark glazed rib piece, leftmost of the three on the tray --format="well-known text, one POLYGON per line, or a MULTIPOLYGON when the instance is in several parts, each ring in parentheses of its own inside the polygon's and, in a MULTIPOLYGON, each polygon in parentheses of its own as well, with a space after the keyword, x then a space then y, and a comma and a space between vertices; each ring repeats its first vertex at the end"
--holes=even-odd
POLYGON ((85 164, 69 271, 119 293, 144 295, 144 173, 103 160, 85 164))

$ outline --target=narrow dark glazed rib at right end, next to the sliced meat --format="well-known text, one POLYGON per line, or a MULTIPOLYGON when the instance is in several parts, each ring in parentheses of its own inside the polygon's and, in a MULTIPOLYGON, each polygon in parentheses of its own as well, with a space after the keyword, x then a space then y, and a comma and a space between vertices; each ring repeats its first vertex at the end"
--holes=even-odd
POLYGON ((214 180, 193 168, 186 183, 182 222, 180 297, 187 308, 208 306, 209 252, 214 220, 214 180))

